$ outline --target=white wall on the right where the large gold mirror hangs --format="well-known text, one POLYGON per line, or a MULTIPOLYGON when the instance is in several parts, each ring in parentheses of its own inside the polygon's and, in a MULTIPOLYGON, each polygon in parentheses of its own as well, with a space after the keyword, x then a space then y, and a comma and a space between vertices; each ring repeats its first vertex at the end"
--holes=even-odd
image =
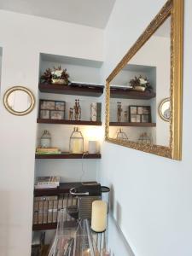
MULTIPOLYGON (((105 33, 103 80, 137 40, 164 0, 115 3, 105 33)), ((183 78, 183 160, 174 161, 104 143, 101 180, 113 189, 112 213, 137 256, 192 254, 191 18, 185 0, 183 78)), ((115 255, 129 255, 113 242, 115 255)))

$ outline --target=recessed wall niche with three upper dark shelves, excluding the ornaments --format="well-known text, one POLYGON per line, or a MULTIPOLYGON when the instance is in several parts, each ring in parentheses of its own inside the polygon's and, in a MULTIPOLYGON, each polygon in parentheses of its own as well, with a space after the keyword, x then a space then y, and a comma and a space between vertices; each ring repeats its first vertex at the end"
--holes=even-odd
MULTIPOLYGON (((84 151, 88 150, 89 140, 101 137, 102 122, 90 121, 91 102, 102 102, 104 84, 101 83, 101 67, 102 61, 40 54, 38 99, 65 101, 66 116, 65 120, 39 119, 39 116, 37 117, 37 146, 44 130, 50 132, 52 146, 61 148, 62 152, 68 152, 69 138, 75 126, 79 126, 83 133, 84 151), (59 66, 63 69, 67 68, 67 73, 70 75, 69 79, 75 86, 40 83, 40 77, 47 68, 53 69, 53 67, 59 66), (82 84, 89 84, 89 86, 84 88, 82 84), (69 108, 73 108, 75 99, 79 99, 82 117, 80 121, 69 121, 69 108)), ((85 180, 96 180, 96 159, 99 158, 101 158, 100 154, 84 158, 85 180)), ((45 158, 47 160, 42 160, 42 156, 36 155, 36 159, 36 176, 59 175, 62 182, 75 182, 79 181, 79 177, 82 175, 82 160, 79 155, 75 158, 74 156, 67 157, 66 154, 64 157, 62 154, 59 157, 45 158)))

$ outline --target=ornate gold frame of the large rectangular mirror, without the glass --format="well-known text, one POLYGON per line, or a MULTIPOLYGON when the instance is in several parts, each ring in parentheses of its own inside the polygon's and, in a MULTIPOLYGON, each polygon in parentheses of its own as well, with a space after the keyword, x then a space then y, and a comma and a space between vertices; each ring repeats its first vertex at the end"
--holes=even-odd
POLYGON ((117 67, 106 80, 106 126, 105 140, 128 148, 142 150, 174 160, 182 158, 182 101, 183 101, 183 0, 169 0, 155 16, 137 42, 129 49, 117 67), (128 61, 137 53, 162 23, 171 15, 171 119, 170 119, 170 146, 123 142, 109 137, 109 104, 110 82, 125 67, 128 61))

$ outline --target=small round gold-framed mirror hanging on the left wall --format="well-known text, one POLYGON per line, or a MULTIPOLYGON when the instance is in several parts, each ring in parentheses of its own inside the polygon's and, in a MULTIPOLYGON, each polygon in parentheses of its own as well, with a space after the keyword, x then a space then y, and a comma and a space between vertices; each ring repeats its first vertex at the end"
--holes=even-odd
POLYGON ((3 96, 3 103, 9 113, 25 115, 35 106, 35 97, 32 91, 23 86, 9 88, 3 96))

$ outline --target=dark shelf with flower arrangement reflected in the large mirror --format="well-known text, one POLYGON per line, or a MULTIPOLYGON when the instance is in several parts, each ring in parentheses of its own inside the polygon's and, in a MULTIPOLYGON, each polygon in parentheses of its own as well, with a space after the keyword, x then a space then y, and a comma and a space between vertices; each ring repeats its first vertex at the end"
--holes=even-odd
POLYGON ((121 99, 137 99, 137 100, 150 100, 156 96, 153 91, 137 91, 137 90, 127 90, 122 88, 110 88, 111 98, 121 98, 121 99))

